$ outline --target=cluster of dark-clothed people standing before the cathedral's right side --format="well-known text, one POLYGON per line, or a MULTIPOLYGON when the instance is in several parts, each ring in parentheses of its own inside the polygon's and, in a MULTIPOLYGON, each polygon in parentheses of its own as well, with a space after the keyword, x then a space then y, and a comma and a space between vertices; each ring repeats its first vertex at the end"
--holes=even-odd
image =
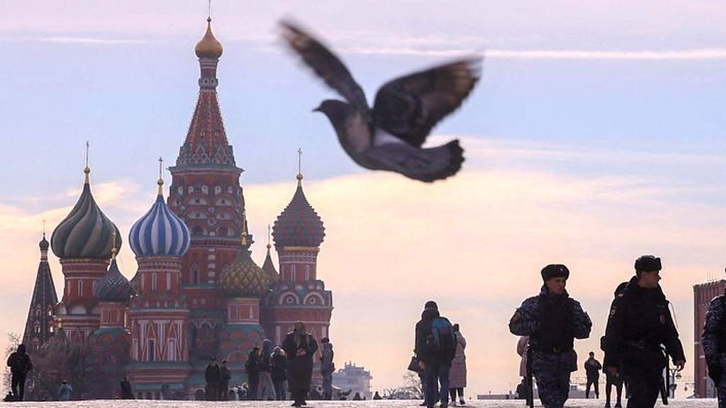
MULTIPOLYGON (((333 344, 322 338, 320 370, 323 378, 323 399, 333 396, 333 344)), ((290 393, 293 407, 306 404, 312 380, 313 358, 318 351, 318 343, 306 331, 303 322, 296 322, 292 332, 285 336, 282 346, 273 346, 272 341, 264 339, 262 347, 254 347, 245 362, 248 377, 245 399, 283 400, 290 393)), ((205 398, 211 401, 229 399, 229 381, 232 375, 227 361, 221 366, 213 360, 205 370, 205 398)), ((242 388, 242 387, 240 387, 242 388)))

